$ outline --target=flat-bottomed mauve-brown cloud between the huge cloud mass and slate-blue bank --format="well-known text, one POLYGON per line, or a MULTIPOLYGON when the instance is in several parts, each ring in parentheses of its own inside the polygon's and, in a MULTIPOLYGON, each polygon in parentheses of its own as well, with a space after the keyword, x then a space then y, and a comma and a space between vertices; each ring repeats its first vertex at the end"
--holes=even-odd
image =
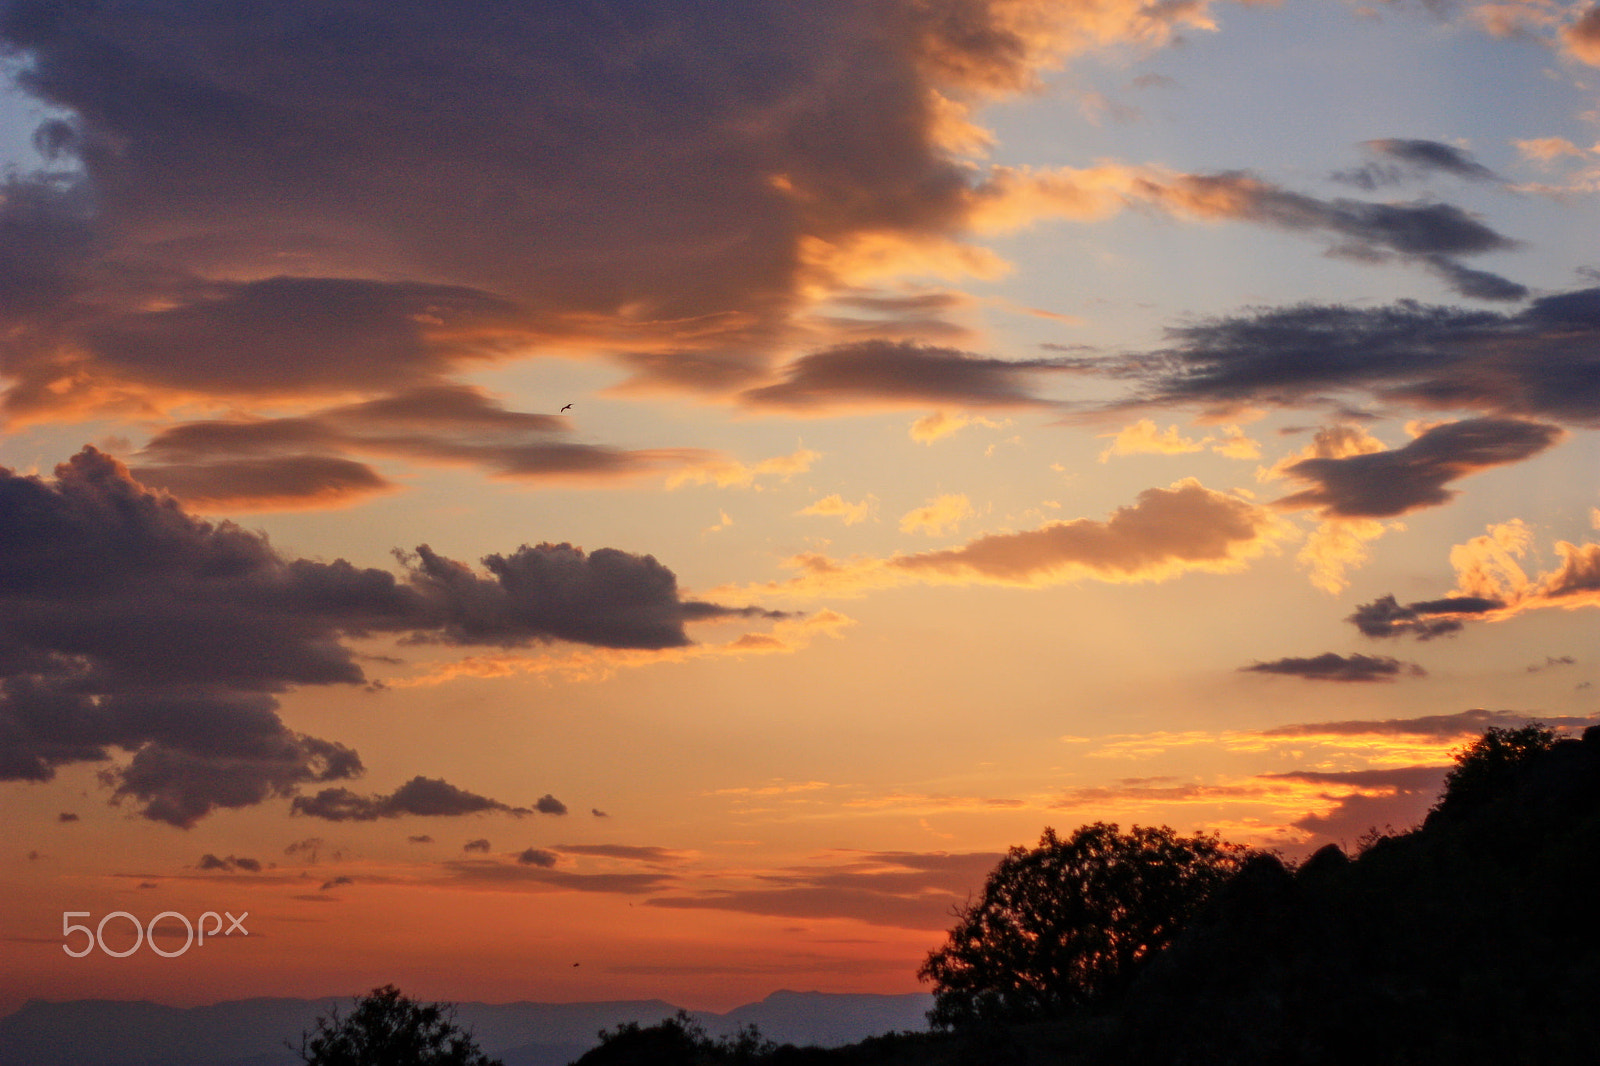
POLYGON ((986 359, 909 341, 859 341, 802 355, 784 379, 742 394, 754 407, 818 408, 946 403, 1037 407, 1034 379, 1075 370, 1075 360, 986 359))

